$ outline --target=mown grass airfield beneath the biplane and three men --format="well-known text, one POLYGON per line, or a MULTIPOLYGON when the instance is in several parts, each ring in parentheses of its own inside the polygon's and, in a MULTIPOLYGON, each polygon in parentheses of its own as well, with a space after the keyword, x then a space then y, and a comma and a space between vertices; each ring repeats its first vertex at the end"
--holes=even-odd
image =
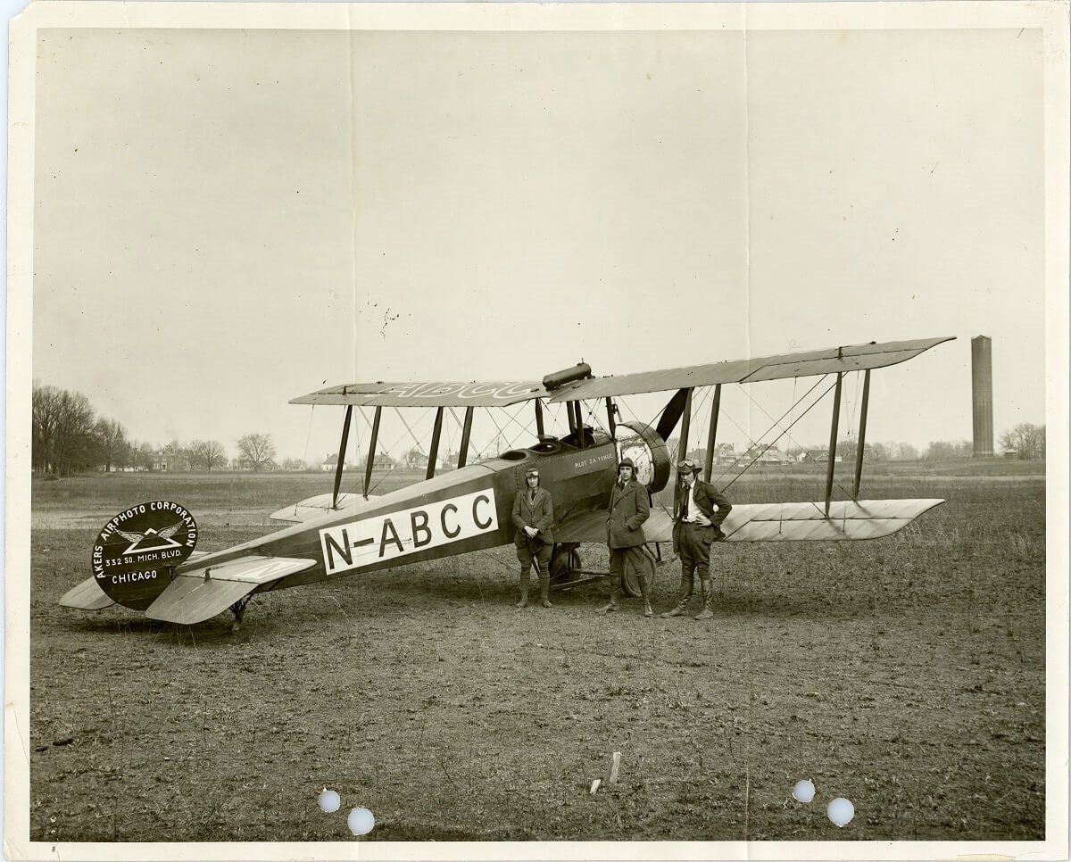
POLYGON ((948 502, 874 542, 718 545, 709 622, 600 617, 605 581, 517 610, 512 548, 265 594, 236 635, 56 604, 132 502, 183 503, 212 550, 330 481, 34 480, 32 838, 344 841, 359 805, 368 840, 1044 837, 1043 475, 877 475, 864 497, 948 502))

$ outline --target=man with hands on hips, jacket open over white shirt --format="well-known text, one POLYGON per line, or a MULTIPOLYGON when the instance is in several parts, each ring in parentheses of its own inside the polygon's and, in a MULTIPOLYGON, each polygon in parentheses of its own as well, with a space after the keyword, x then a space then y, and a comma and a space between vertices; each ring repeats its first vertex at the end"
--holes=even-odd
POLYGON ((682 488, 680 499, 674 506, 673 553, 680 555, 680 594, 677 606, 661 615, 679 617, 688 610, 692 598, 693 576, 698 570, 699 586, 703 588, 703 610, 693 619, 709 620, 714 616, 710 609, 713 601, 713 585, 710 581, 710 546, 724 539, 721 523, 733 505, 718 489, 698 477, 694 462, 684 459, 677 465, 677 477, 682 488))

